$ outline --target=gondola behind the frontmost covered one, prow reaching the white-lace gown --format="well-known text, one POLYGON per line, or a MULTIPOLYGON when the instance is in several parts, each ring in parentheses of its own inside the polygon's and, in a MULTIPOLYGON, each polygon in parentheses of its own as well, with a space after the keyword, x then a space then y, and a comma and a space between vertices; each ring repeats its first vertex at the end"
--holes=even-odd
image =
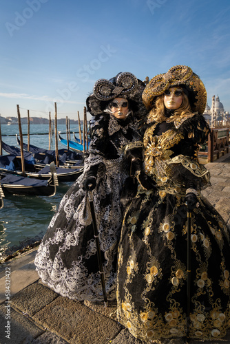
MULTIPOLYGON (((25 174, 29 178, 36 178, 40 180, 48 180, 51 176, 50 165, 54 162, 51 162, 49 165, 43 164, 35 164, 32 158, 28 159, 30 155, 26 155, 24 157, 25 163, 25 174)), ((83 166, 81 162, 79 162, 79 166, 76 166, 75 169, 71 167, 65 166, 63 167, 55 167, 56 169, 56 176, 59 182, 73 182, 76 178, 81 175, 83 171, 83 166)), ((0 175, 23 175, 23 171, 21 169, 21 156, 20 155, 1 155, 0 156, 0 175)))

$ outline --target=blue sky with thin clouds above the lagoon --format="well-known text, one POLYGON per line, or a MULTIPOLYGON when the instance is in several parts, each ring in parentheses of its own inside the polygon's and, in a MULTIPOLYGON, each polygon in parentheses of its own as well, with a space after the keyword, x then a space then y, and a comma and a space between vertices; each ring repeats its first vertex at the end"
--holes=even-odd
POLYGON ((1 0, 0 114, 83 119, 96 80, 174 65, 230 112, 229 18, 229 0, 1 0))

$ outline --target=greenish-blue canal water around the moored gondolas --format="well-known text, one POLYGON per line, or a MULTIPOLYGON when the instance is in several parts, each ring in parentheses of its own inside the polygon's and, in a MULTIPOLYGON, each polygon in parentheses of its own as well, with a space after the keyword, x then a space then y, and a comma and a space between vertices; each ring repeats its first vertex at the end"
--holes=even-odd
MULTIPOLYGON (((28 143, 28 138, 25 136, 27 130, 27 125, 22 125, 24 143, 28 143)), ((63 132, 63 138, 66 138, 65 130, 65 125, 58 125, 58 131, 63 132)), ((71 128, 71 131, 75 131, 78 137, 77 128, 71 128)), ((3 142, 19 147, 16 133, 19 135, 17 125, 1 125, 3 142)), ((30 144, 48 149, 48 125, 30 125, 30 144)), ((62 148, 65 146, 59 141, 59 149, 62 148)), ((51 149, 55 149, 54 136, 51 149)), ((59 183, 56 195, 52 197, 7 195, 3 198, 4 206, 0 209, 0 260, 6 253, 43 237, 52 215, 71 184, 72 182, 59 183)))

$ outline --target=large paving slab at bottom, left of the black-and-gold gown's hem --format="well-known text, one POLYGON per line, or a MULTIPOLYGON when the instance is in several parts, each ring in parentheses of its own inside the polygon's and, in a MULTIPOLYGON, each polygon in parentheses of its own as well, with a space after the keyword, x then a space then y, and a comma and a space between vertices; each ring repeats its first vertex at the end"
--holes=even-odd
POLYGON ((33 319, 72 344, 107 344, 122 330, 116 321, 66 297, 58 297, 33 319))

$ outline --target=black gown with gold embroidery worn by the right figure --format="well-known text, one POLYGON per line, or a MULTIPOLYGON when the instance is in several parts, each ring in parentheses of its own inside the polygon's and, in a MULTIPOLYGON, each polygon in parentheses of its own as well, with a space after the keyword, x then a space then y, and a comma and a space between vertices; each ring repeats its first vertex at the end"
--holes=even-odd
MULTIPOLYGON (((118 246, 118 321, 143 341, 182 337, 187 330, 185 190, 205 188, 198 144, 209 127, 202 115, 151 122, 145 131, 145 172, 156 186, 138 187, 118 246)), ((191 217, 189 337, 216 340, 230 326, 229 228, 208 200, 191 217)))

